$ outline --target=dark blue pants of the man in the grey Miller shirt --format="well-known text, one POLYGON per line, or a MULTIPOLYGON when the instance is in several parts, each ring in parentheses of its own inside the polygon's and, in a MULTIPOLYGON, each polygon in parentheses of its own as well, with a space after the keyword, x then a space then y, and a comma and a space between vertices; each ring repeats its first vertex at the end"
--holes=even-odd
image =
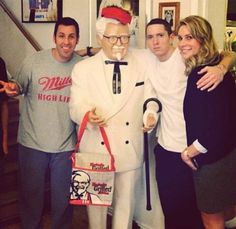
POLYGON ((45 153, 19 146, 20 216, 23 229, 38 229, 41 226, 45 175, 48 168, 51 182, 51 228, 71 228, 70 156, 70 152, 45 153))

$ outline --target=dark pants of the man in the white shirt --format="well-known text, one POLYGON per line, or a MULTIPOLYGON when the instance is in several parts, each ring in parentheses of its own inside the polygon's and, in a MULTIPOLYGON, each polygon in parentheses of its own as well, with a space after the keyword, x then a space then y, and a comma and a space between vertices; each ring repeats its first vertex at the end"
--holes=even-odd
POLYGON ((180 154, 157 145, 156 179, 165 216, 165 229, 202 229, 197 209, 193 174, 181 160, 180 154))

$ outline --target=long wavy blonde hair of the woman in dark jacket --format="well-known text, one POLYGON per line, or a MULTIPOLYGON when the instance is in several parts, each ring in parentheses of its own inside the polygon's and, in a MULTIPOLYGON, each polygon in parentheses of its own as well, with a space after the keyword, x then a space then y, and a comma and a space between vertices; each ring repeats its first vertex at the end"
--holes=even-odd
POLYGON ((210 23, 200 16, 192 15, 180 21, 177 31, 179 31, 180 27, 183 25, 188 27, 193 38, 200 42, 201 45, 198 54, 185 60, 186 75, 199 65, 214 64, 215 62, 218 62, 220 55, 213 38, 213 31, 210 23))

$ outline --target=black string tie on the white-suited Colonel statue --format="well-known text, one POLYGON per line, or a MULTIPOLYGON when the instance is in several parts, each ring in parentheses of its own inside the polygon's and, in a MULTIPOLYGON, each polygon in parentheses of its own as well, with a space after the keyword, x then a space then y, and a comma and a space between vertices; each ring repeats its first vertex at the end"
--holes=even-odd
POLYGON ((121 93, 120 65, 128 65, 128 63, 124 61, 106 60, 105 64, 114 64, 113 78, 112 78, 112 91, 113 91, 113 94, 120 94, 121 93))

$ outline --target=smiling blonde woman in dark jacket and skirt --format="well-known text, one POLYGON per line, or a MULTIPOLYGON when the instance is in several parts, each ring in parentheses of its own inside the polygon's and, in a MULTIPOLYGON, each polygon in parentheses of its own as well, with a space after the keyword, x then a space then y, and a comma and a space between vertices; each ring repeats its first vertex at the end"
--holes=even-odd
POLYGON ((223 212, 236 203, 235 82, 227 73, 214 91, 196 89, 196 82, 202 77, 198 72, 221 60, 207 20, 200 16, 181 20, 178 40, 188 76, 184 98, 188 147, 181 157, 193 170, 205 228, 224 229, 223 212))

